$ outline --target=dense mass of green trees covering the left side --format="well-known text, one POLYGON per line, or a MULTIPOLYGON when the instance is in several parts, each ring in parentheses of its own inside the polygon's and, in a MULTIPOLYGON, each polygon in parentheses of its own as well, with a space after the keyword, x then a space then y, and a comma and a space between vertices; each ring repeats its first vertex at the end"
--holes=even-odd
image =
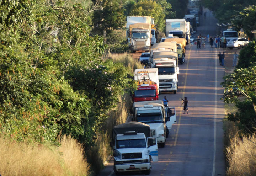
POLYGON ((92 144, 100 124, 132 89, 129 71, 91 36, 84 6, 1 1, 0 133, 54 143, 59 133, 92 144))

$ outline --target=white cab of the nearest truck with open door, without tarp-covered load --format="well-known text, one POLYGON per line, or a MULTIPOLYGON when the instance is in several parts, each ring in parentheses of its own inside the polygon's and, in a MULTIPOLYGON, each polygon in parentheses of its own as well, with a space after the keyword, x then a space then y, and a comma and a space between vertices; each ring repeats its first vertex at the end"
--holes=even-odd
POLYGON ((156 137, 146 138, 144 133, 135 131, 116 135, 113 169, 117 175, 128 171, 143 171, 148 175, 152 161, 158 161, 156 137))

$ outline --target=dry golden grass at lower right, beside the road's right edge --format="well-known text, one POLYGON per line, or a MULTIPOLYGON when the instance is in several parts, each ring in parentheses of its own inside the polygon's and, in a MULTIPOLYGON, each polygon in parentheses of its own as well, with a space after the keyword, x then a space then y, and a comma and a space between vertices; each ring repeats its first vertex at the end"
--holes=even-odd
POLYGON ((229 167, 227 176, 256 175, 256 134, 243 137, 235 135, 230 146, 226 149, 229 167))

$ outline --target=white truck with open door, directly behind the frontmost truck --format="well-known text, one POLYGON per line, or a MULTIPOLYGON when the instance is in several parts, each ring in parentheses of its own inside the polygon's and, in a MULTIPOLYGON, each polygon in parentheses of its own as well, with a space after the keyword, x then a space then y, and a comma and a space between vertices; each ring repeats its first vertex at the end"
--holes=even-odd
POLYGON ((165 107, 161 100, 134 102, 132 120, 148 124, 150 136, 156 137, 157 143, 164 147, 169 130, 176 122, 175 108, 171 111, 173 108, 165 107))

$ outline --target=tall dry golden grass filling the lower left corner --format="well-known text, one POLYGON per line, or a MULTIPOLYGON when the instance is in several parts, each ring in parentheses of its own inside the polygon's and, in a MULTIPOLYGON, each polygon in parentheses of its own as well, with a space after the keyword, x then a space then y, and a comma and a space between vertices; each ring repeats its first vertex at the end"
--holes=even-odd
POLYGON ((31 145, 0 137, 2 176, 86 176, 89 165, 83 148, 75 139, 64 136, 60 147, 31 145))

